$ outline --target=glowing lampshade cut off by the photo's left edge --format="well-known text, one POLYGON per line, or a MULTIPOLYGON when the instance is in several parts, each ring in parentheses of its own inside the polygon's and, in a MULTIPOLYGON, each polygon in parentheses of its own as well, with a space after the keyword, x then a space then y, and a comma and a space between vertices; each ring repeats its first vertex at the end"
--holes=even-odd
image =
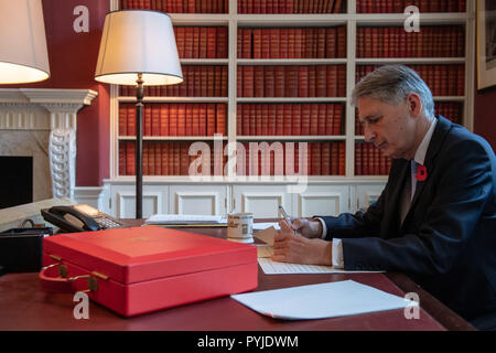
POLYGON ((0 0, 0 84, 50 77, 41 0, 0 0))

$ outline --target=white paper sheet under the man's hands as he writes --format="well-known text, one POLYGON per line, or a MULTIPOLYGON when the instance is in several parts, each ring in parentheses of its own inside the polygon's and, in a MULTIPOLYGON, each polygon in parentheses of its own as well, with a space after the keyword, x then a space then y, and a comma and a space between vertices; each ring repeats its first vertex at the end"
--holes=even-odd
POLYGON ((266 275, 289 275, 289 274, 374 274, 374 271, 347 271, 336 269, 332 266, 302 265, 273 261, 269 257, 258 257, 258 264, 266 275))

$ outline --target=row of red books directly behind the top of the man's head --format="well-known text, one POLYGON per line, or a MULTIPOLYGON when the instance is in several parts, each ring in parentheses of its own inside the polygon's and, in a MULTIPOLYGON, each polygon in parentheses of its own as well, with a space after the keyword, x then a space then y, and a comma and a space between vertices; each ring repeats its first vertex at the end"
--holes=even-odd
MULTIPOLYGON (((373 72, 380 65, 359 65, 356 67, 356 81, 373 72)), ((464 65, 409 65, 425 84, 434 96, 464 96, 465 66, 464 65)))

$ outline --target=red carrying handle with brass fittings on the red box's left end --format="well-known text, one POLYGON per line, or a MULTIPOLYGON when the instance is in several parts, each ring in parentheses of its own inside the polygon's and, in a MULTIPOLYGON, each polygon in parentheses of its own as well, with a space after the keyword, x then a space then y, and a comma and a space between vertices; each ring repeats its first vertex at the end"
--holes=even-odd
POLYGON ((46 267, 43 267, 40 271, 39 278, 40 284, 43 290, 48 292, 57 292, 57 293, 73 293, 76 292, 74 287, 74 281, 82 278, 88 279, 88 289, 82 290, 79 292, 88 292, 88 291, 97 291, 98 290, 98 281, 96 278, 89 275, 75 276, 75 277, 65 277, 67 276, 67 268, 65 265, 57 263, 52 264, 46 267), (58 276, 53 276, 54 269, 58 270, 58 276))

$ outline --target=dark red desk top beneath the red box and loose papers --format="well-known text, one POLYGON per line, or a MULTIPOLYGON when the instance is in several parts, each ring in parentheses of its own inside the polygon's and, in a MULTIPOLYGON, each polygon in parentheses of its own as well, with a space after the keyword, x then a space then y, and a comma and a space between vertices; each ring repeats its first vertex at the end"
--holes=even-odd
MULTIPOLYGON (((226 236, 225 228, 188 231, 216 237, 226 236)), ((407 320, 403 310, 398 309, 325 320, 283 321, 261 315, 229 297, 224 297, 130 319, 90 302, 89 320, 76 320, 73 310, 77 302, 73 301, 72 295, 42 291, 37 274, 9 274, 0 277, 0 330, 473 330, 467 322, 401 274, 265 275, 259 268, 259 286, 256 290, 346 279, 400 297, 409 291, 418 292, 420 319, 407 320)))

